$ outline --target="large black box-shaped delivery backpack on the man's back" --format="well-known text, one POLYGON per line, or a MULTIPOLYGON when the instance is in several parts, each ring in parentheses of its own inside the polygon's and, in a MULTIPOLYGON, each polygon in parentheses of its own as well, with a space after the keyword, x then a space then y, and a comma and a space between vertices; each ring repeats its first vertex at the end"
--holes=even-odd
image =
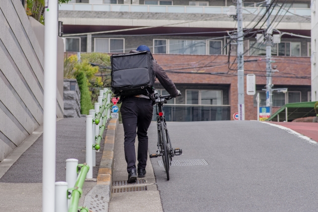
POLYGON ((111 90, 115 96, 154 93, 154 58, 148 51, 112 55, 111 90))

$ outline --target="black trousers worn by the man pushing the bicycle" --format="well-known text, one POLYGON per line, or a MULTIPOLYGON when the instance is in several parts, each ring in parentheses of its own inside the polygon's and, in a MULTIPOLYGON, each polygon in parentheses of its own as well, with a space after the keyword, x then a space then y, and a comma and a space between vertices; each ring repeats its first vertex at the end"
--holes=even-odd
POLYGON ((140 97, 125 97, 120 108, 124 126, 124 150, 127 171, 136 169, 135 139, 138 136, 138 169, 145 169, 148 156, 147 131, 153 118, 152 100, 140 97))

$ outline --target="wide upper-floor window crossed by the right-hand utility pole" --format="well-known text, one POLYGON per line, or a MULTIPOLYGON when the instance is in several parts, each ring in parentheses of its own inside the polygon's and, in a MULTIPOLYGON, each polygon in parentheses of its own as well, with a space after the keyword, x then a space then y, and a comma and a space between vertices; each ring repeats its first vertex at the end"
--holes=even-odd
MULTIPOLYGON (((301 47, 300 42, 281 42, 272 46, 272 56, 292 56, 300 57, 301 47), (278 51, 277 51, 278 49, 278 51)), ((265 56, 266 44, 250 42, 249 54, 251 56, 265 56)))

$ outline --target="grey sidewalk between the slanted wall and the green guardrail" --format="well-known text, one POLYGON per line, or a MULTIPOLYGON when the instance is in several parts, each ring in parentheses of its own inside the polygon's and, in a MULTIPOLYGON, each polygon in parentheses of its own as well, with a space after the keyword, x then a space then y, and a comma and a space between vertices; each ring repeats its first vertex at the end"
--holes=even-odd
MULTIPOLYGON (((85 118, 68 118, 57 122, 56 181, 65 181, 65 160, 85 162, 85 118)), ((0 162, 0 211, 42 211, 42 126, 0 162), (3 175, 3 176, 2 176, 3 175)), ((105 135, 106 131, 104 132, 105 135)), ((101 142, 103 149, 104 142, 101 142)), ((85 181, 83 195, 96 185, 102 151, 96 152, 93 180, 85 181)))

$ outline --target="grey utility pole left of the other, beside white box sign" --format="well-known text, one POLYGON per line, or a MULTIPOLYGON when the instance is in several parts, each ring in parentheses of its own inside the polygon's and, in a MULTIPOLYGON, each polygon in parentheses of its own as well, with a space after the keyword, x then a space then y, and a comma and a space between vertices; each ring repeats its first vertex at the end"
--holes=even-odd
POLYGON ((237 18, 238 18, 238 100, 239 100, 239 120, 245 119, 244 114, 244 46, 243 46, 243 14, 242 0, 237 0, 237 18))

